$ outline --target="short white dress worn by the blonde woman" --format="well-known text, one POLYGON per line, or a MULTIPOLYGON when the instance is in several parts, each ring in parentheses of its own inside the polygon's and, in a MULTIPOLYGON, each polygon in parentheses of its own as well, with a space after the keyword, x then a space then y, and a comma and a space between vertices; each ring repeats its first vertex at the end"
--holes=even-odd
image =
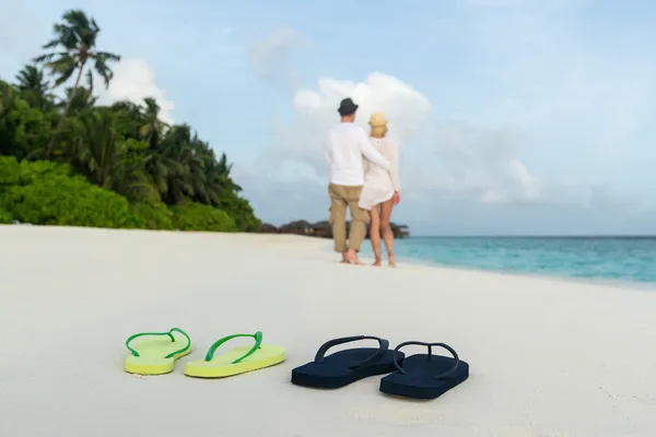
POLYGON ((385 168, 364 160, 364 186, 360 194, 360 208, 370 211, 379 203, 386 202, 400 191, 399 184, 399 150, 388 138, 370 138, 372 145, 391 164, 391 169, 385 168))

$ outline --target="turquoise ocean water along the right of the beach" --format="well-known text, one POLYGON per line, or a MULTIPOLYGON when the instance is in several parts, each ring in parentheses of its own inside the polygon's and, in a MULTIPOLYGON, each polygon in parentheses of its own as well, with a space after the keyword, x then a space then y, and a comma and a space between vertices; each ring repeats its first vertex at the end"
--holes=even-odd
MULTIPOLYGON (((395 252, 398 261, 656 285, 656 237, 411 237, 395 240, 395 252)), ((362 255, 372 253, 367 240, 362 255)))

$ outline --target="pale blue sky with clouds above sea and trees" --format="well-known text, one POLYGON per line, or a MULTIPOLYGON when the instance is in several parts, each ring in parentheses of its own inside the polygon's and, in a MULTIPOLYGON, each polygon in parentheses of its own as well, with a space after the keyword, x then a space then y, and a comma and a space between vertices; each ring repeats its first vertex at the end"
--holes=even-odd
MULTIPOLYGON (((12 78, 68 1, 8 0, 12 78)), ((414 234, 656 233, 656 2, 86 1, 122 55, 103 101, 154 95, 235 163, 265 221, 325 220, 339 99, 385 110, 414 234)))

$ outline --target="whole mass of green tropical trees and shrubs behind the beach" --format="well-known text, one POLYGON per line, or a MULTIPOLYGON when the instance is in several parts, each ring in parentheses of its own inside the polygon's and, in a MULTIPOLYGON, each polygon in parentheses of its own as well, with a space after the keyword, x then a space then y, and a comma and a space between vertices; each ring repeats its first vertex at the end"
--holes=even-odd
POLYGON ((67 11, 52 34, 0 78, 0 224, 260 229, 225 154, 190 126, 163 122, 150 97, 96 104, 93 78, 108 87, 120 56, 98 48, 93 17, 67 11))

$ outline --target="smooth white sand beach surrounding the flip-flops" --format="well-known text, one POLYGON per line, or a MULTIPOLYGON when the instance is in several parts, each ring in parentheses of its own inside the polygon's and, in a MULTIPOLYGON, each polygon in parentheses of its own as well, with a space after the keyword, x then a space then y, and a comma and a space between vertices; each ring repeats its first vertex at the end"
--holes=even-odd
POLYGON ((656 435, 654 292, 342 265, 330 248, 0 226, 0 436, 656 435), (122 370, 130 334, 173 327, 194 341, 174 373, 122 370), (257 330, 286 347, 284 363, 216 380, 183 374, 216 339, 257 330), (321 343, 356 334, 445 342, 470 377, 421 402, 380 393, 380 377, 331 391, 290 382, 321 343))

